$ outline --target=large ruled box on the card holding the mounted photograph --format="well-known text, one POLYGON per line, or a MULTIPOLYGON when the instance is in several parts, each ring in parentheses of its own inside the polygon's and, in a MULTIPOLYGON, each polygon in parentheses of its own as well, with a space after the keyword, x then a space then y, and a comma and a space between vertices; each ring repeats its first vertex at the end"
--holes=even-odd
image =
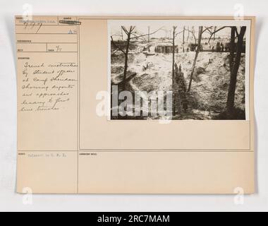
POLYGON ((250 150, 251 20, 81 21, 82 150, 250 150))

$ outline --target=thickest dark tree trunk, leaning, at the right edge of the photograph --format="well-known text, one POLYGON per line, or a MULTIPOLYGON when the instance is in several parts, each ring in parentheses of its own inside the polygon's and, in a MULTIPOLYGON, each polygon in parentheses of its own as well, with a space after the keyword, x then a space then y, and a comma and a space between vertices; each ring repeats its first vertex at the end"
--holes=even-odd
POLYGON ((229 84, 229 92, 227 98, 227 116, 232 117, 233 109, 234 109, 234 100, 236 93, 236 81, 237 81, 237 73, 240 66, 240 59, 243 49, 243 38, 245 35, 246 27, 241 27, 240 34, 238 35, 238 43, 237 43, 237 51, 236 51, 236 59, 233 63, 233 69, 231 71, 230 84, 229 84))

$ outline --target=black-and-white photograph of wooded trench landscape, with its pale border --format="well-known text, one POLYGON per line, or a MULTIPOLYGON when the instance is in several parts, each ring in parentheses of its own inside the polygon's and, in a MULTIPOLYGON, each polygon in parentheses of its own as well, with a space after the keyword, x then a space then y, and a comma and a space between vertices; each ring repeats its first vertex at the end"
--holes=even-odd
POLYGON ((111 120, 245 120, 246 26, 109 26, 111 120))

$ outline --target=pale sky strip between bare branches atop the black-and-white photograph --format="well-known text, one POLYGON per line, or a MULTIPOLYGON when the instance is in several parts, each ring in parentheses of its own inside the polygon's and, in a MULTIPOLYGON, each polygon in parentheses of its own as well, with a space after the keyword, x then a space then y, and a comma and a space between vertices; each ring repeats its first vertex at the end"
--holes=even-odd
MULTIPOLYGON (((135 32, 137 32, 140 35, 145 35, 148 34, 148 26, 146 25, 138 25, 135 26, 135 32)), ((130 26, 125 26, 125 28, 127 28, 129 30, 130 26)), ((195 37, 198 37, 198 26, 185 26, 185 29, 190 29, 190 30, 195 30, 195 37)), ((205 29, 207 27, 203 27, 203 29, 205 29)), ((217 27, 217 29, 219 29, 221 27, 217 27)), ((150 35, 150 37, 156 37, 156 38, 160 38, 160 37, 172 37, 173 34, 173 26, 167 26, 167 25, 150 25, 150 33, 154 32, 158 30, 156 33, 150 35), (161 30, 159 30, 159 28, 161 28, 161 30)), ((214 30, 214 29, 212 29, 214 30)), ((176 28, 176 32, 181 32, 183 31, 183 27, 182 26, 178 26, 176 28)), ((239 32, 239 29, 238 29, 239 32)), ((121 35, 121 26, 120 25, 114 25, 111 26, 111 35, 113 35, 114 40, 118 40, 121 39, 121 37, 119 37, 118 35, 121 35)), ((190 33, 191 35, 191 33, 190 33)), ((216 37, 230 37, 231 35, 231 28, 224 28, 223 30, 220 30, 219 32, 217 32, 216 37)), ((126 34, 125 32, 123 32, 123 37, 124 39, 126 38, 126 34)), ((179 34, 177 37, 183 37, 183 33, 181 32, 181 34, 179 34)), ((185 37, 188 37, 188 30, 185 31, 185 37)), ((209 32, 204 32, 202 37, 210 37, 209 32)))

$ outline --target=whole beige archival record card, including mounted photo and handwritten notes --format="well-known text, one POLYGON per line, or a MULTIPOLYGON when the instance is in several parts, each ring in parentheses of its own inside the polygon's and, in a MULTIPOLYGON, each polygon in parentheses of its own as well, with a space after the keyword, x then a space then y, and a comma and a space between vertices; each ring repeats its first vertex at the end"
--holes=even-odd
POLYGON ((17 191, 254 193, 254 29, 254 17, 16 16, 17 191))

